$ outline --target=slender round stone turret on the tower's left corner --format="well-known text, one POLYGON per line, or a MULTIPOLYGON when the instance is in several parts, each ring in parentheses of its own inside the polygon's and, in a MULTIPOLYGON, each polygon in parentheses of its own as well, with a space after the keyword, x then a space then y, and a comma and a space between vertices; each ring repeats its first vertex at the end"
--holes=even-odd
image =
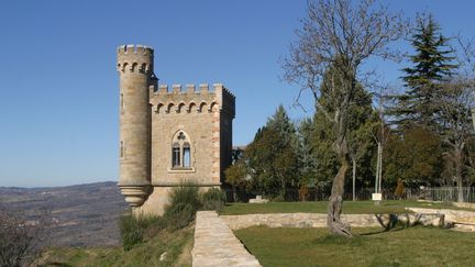
POLYGON ((148 87, 154 82, 153 48, 118 48, 120 76, 120 179, 125 201, 141 205, 151 188, 151 109, 148 87))

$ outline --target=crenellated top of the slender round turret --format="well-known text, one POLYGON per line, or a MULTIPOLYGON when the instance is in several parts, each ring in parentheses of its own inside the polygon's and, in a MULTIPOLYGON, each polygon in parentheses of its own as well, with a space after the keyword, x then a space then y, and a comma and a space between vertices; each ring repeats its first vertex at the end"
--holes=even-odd
POLYGON ((117 69, 121 73, 152 73, 154 49, 145 45, 121 45, 117 49, 117 69))

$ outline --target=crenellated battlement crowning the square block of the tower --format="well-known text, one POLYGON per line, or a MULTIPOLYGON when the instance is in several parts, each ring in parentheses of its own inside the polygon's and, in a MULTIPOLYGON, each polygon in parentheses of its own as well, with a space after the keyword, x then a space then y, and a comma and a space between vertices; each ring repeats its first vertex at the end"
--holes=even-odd
POLYGON ((234 116, 235 96, 222 84, 159 85, 158 90, 151 94, 151 104, 155 113, 191 113, 223 111, 234 116))

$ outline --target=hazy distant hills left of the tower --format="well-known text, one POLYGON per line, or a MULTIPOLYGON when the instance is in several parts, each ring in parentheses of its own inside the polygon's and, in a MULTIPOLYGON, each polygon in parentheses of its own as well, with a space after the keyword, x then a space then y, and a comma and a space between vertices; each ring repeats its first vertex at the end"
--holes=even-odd
POLYGON ((0 204, 34 221, 46 210, 55 222, 53 246, 119 244, 119 216, 128 209, 114 181, 51 188, 0 187, 0 204))

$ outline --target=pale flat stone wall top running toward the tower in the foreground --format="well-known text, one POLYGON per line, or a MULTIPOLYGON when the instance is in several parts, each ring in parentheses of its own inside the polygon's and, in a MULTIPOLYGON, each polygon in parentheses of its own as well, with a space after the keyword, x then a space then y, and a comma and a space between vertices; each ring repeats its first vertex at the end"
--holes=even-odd
POLYGON ((196 219, 192 266, 261 266, 216 211, 199 211, 196 219))

